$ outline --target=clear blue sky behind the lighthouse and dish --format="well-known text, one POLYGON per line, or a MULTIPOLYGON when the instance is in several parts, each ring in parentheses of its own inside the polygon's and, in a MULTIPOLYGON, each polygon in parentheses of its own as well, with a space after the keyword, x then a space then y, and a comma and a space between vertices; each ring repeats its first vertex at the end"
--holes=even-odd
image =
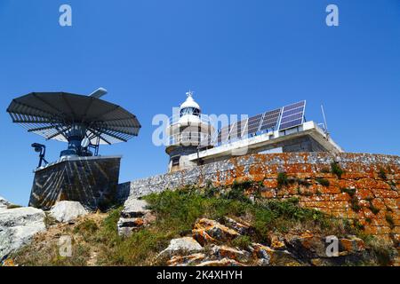
MULTIPOLYGON (((257 114, 300 99, 348 152, 400 154, 398 0, 1 0, 0 195, 28 203, 44 138, 5 113, 31 91, 88 94, 137 114, 139 138, 103 146, 123 154, 120 182, 164 173, 153 146, 155 114, 170 114, 188 89, 209 114, 257 114), (73 27, 59 25, 60 4, 73 27), (325 25, 337 4, 340 26, 325 25)), ((46 142, 48 160, 66 145, 46 142)))

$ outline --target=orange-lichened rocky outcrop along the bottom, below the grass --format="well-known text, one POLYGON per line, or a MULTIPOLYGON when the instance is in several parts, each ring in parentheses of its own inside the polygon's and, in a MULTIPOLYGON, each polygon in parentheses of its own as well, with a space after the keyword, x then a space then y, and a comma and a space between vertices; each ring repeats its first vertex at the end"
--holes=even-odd
POLYGON ((158 257, 166 259, 166 264, 171 266, 311 266, 369 261, 361 239, 309 231, 268 233, 268 244, 251 242, 238 248, 234 245, 235 239, 250 237, 251 225, 231 217, 224 219, 225 225, 206 218, 196 220, 192 237, 173 239, 158 257), (337 241, 337 251, 331 254, 329 245, 333 239, 337 241))

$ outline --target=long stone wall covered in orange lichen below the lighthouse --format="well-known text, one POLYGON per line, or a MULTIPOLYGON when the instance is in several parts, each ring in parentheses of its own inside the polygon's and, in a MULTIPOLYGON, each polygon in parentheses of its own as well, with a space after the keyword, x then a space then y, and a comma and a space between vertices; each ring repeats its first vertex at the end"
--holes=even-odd
POLYGON ((262 181, 265 198, 298 197, 300 206, 357 219, 366 233, 399 240, 400 157, 394 155, 251 154, 125 183, 119 186, 119 194, 121 199, 140 197, 184 185, 204 186, 208 181, 231 185, 235 180, 262 181), (345 171, 341 177, 330 172, 332 162, 345 171), (305 182, 280 187, 280 172, 305 182))

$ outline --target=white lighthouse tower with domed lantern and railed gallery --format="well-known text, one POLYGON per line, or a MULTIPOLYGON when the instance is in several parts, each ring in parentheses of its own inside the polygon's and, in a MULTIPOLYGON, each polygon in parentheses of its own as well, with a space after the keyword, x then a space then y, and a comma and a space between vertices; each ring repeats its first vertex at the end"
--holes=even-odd
POLYGON ((186 94, 188 98, 180 105, 179 114, 170 118, 167 127, 169 143, 165 152, 170 156, 169 172, 188 168, 191 163, 186 159, 188 154, 212 147, 212 123, 193 99, 193 91, 186 94))

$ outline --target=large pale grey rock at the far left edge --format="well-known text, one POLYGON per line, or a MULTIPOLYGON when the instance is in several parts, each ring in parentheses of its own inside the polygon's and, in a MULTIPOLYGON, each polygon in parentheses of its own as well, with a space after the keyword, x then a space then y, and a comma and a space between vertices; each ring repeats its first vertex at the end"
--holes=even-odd
POLYGON ((45 231, 44 218, 43 210, 32 207, 0 211, 0 260, 45 231))

